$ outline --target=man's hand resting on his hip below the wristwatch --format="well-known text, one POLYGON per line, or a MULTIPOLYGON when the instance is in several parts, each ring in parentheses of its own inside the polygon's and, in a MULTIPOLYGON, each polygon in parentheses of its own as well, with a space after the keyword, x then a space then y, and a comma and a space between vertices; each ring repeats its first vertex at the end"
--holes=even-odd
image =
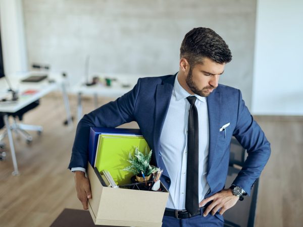
POLYGON ((237 201, 239 200, 238 196, 234 196, 232 194, 231 189, 223 189, 220 192, 212 195, 209 198, 206 198, 202 200, 199 203, 199 207, 204 206, 208 202, 213 202, 206 208, 206 210, 203 213, 203 216, 207 216, 211 211, 212 215, 215 215, 215 213, 221 208, 219 214, 223 214, 226 210, 233 207, 237 201))

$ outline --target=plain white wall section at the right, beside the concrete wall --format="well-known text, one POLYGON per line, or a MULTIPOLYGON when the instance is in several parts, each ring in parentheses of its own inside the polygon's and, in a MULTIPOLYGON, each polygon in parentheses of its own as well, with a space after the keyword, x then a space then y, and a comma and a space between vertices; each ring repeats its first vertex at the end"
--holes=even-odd
POLYGON ((303 115, 303 1, 257 3, 252 113, 303 115))

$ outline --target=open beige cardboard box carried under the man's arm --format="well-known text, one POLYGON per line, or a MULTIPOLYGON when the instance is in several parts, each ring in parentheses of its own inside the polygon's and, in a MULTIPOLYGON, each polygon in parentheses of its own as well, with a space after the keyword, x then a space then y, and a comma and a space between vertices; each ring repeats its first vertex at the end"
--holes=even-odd
POLYGON ((95 224, 162 226, 169 195, 167 189, 166 192, 153 192, 104 187, 89 163, 87 174, 92 193, 92 199, 88 201, 88 209, 95 224))

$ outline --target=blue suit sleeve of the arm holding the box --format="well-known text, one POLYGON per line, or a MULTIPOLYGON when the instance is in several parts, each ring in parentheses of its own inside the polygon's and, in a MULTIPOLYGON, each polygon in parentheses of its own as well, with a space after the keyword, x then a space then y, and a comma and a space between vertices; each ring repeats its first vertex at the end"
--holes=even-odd
POLYGON ((69 169, 72 167, 86 169, 90 127, 115 128, 124 123, 135 121, 133 112, 139 90, 140 79, 128 93, 83 116, 77 126, 69 169))

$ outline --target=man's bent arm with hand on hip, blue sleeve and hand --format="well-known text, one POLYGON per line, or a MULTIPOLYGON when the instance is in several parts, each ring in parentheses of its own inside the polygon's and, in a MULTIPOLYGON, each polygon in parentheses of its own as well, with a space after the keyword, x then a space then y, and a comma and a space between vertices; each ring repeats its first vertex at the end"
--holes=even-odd
MULTIPOLYGON (((237 114, 237 124, 233 135, 239 143, 247 150, 248 156, 242 166, 241 171, 232 183, 241 187, 245 193, 250 195, 252 185, 260 177, 261 172, 270 156, 270 143, 265 137, 260 126, 254 121, 249 110, 245 106, 239 91, 239 104, 237 114)), ((210 212, 212 215, 220 210, 222 215, 227 209, 233 207, 239 197, 234 196, 231 189, 223 189, 220 192, 204 199, 200 202, 200 207, 213 201, 204 212, 204 216, 210 212)))

